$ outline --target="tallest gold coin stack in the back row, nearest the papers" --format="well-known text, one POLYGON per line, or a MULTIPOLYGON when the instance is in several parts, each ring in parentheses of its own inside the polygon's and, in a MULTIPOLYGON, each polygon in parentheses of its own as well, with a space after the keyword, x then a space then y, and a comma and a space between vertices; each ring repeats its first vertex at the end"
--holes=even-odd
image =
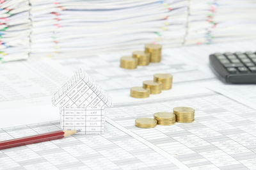
POLYGON ((159 63, 161 61, 162 45, 159 44, 146 44, 145 52, 150 54, 151 63, 159 63))

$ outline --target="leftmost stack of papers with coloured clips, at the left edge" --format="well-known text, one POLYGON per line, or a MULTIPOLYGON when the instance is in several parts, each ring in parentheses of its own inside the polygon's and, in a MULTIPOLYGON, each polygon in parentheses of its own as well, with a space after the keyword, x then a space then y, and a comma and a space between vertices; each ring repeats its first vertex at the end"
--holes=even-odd
POLYGON ((29 53, 29 1, 0 1, 0 60, 27 59, 29 53))

